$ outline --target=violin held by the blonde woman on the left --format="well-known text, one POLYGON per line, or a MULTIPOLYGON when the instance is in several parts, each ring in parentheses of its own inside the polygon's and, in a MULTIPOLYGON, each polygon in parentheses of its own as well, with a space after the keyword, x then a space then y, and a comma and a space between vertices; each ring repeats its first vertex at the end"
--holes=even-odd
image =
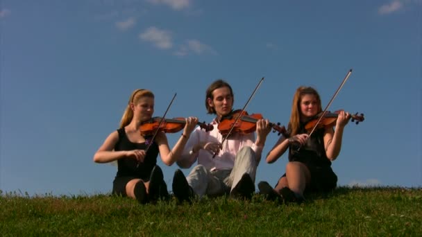
MULTIPOLYGON (((144 121, 140 126, 140 132, 142 136, 152 135, 155 133, 156 130, 166 132, 166 133, 174 133, 179 132, 185 128, 185 118, 174 118, 174 119, 164 119, 162 121, 161 117, 153 117, 148 121, 144 121), (160 125, 161 122, 161 125, 160 125), (160 128, 158 126, 160 125, 160 128)), ((205 121, 203 123, 196 123, 199 127, 206 132, 211 131, 214 129, 214 126, 211 124, 206 124, 205 121)))

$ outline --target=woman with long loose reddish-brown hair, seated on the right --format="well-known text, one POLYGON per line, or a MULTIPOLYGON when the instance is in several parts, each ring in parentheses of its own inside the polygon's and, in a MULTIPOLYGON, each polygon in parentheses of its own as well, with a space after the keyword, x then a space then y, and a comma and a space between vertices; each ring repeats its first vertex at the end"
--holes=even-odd
POLYGON ((260 193, 269 200, 302 202, 306 191, 327 192, 337 186, 337 175, 331 168, 331 161, 339 155, 344 126, 351 114, 341 111, 335 122, 335 130, 322 127, 311 136, 305 126, 310 119, 322 112, 321 99, 312 87, 299 87, 293 98, 292 114, 287 128, 289 137, 280 137, 267 155, 267 162, 275 162, 289 148, 289 162, 286 173, 280 177, 275 188, 267 182, 260 182, 260 193))

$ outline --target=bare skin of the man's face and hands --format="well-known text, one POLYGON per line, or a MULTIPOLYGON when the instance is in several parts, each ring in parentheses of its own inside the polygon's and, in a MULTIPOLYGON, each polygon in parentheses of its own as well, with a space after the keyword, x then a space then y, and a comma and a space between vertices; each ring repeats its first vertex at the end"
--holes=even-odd
MULTIPOLYGON (((212 91, 213 98, 208 98, 208 105, 214 108, 217 119, 220 120, 223 116, 228 115, 233 109, 233 96, 230 94, 230 89, 228 87, 220 87, 212 91)), ((256 146, 264 146, 267 135, 271 132, 271 126, 267 119, 260 119, 256 123, 256 134, 257 138, 255 140, 256 146)), ((207 150, 212 154, 216 154, 221 150, 221 143, 208 142, 200 143, 194 146, 193 150, 196 152, 198 150, 207 150)))

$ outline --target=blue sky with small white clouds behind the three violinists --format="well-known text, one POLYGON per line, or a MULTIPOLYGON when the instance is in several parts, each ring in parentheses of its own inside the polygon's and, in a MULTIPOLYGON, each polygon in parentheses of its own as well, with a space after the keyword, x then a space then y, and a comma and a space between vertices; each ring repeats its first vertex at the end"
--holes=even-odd
MULTIPOLYGON (((223 78, 235 108, 287 125, 297 87, 323 107, 364 113, 332 167, 339 185, 420 187, 422 1, 78 0, 0 3, 0 189, 108 193, 117 167, 94 164, 130 93, 155 93, 155 116, 206 114, 223 78)), ((180 134, 167 134, 174 145, 180 134)), ((269 134, 264 156, 278 139, 269 134)), ((287 154, 260 163, 276 184, 287 154)), ((169 187, 177 166, 164 166, 169 187)), ((184 169, 188 174, 190 169, 184 169)))

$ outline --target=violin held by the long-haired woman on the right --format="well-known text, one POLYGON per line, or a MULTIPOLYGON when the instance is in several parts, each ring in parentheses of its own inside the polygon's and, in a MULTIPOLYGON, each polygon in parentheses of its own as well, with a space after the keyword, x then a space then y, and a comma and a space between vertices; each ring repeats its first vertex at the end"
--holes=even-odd
MULTIPOLYGON (((319 118, 321 117, 321 114, 323 114, 323 112, 316 114, 316 116, 312 119, 310 119, 310 121, 308 121, 305 125, 305 129, 307 130, 307 132, 311 132, 312 129, 314 128, 314 126, 316 125, 316 123, 319 121, 318 125, 316 125, 316 129, 318 128, 332 128, 335 126, 335 124, 337 123, 337 118, 339 116, 339 112, 341 110, 337 110, 334 113, 327 111, 323 118, 321 119, 321 121, 319 121, 319 118)), ((351 119, 352 122, 355 122, 356 124, 359 124, 360 122, 364 121, 364 114, 351 114, 351 119)))

